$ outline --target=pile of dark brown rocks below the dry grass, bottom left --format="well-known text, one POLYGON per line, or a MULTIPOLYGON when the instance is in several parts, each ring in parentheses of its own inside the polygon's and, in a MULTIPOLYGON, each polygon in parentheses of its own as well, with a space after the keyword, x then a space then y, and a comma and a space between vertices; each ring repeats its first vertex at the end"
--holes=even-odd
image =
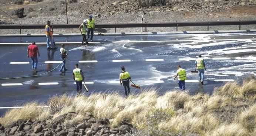
POLYGON ((132 133, 131 126, 110 128, 107 118, 93 118, 90 112, 80 122, 73 121, 76 113, 67 113, 47 120, 20 119, 4 128, 0 124, 0 136, 124 136, 132 133))

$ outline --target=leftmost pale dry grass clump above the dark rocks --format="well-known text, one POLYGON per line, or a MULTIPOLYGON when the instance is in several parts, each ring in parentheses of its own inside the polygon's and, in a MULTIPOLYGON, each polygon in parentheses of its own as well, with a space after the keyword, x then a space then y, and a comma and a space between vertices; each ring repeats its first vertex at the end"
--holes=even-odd
POLYGON ((38 119, 40 116, 43 117, 44 111, 46 110, 37 102, 29 102, 24 105, 24 108, 8 110, 0 119, 0 123, 6 127, 18 119, 38 119))

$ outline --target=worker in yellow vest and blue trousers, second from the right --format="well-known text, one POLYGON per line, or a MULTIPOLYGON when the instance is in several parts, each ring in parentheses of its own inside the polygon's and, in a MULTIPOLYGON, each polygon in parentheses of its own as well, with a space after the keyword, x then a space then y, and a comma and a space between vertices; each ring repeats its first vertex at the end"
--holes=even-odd
POLYGON ((178 80, 179 82, 177 83, 179 85, 179 89, 181 90, 185 90, 186 87, 185 87, 185 80, 187 79, 186 78, 186 71, 185 69, 181 68, 181 65, 177 65, 177 72, 176 72, 176 75, 174 77, 174 80, 176 79, 177 76, 179 76, 178 80))

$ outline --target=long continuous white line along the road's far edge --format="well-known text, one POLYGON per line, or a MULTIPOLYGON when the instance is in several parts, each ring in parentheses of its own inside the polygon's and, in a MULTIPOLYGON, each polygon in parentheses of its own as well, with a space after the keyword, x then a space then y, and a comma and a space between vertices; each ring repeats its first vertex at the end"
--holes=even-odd
MULTIPOLYGON (((209 40, 161 40, 161 41, 102 41, 102 42, 89 42, 94 44, 101 43, 155 43, 155 42, 190 42, 190 41, 234 41, 234 40, 255 40, 255 38, 244 38, 244 39, 209 39, 209 40)), ((81 42, 56 42, 56 44, 80 44, 81 42)), ((0 45, 13 45, 13 44, 28 44, 28 43, 0 43, 0 45)), ((37 43, 46 44, 46 43, 37 43)))

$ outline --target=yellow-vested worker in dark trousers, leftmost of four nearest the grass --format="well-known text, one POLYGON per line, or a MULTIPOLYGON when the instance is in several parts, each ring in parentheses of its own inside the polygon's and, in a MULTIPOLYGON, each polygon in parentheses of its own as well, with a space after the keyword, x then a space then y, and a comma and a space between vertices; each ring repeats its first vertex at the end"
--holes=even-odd
POLYGON ((78 64, 75 64, 75 69, 73 70, 73 79, 77 84, 77 95, 82 93, 82 81, 84 81, 84 73, 82 69, 78 68, 78 64))

